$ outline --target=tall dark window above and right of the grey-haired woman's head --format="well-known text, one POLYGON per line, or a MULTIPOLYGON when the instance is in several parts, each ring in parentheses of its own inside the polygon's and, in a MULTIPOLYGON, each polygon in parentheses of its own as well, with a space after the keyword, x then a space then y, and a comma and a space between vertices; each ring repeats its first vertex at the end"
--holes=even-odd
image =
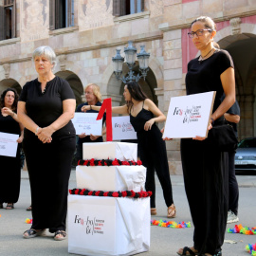
POLYGON ((74 27, 74 0, 51 0, 49 4, 51 30, 74 27))

